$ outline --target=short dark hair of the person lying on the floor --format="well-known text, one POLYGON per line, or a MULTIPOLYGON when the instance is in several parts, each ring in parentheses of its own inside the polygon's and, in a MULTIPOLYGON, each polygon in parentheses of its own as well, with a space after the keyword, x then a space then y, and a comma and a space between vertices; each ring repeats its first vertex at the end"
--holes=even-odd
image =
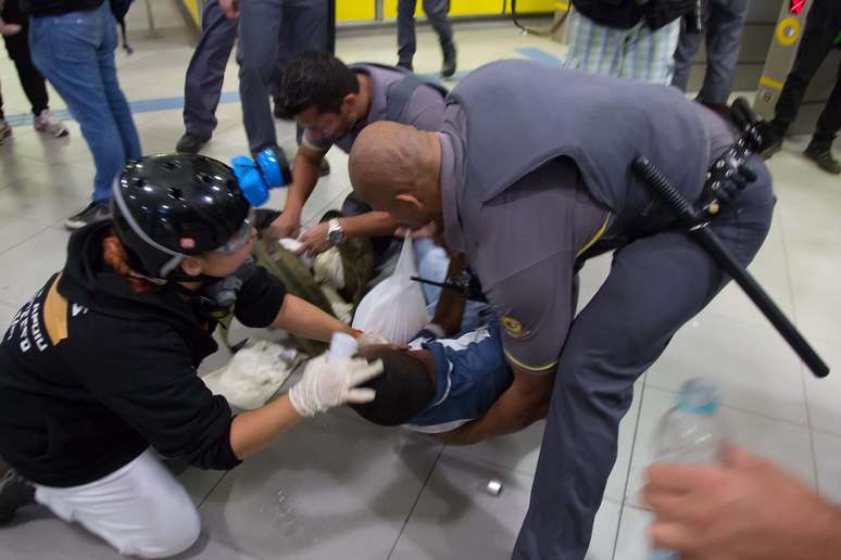
POLYGON ((435 383, 423 361, 389 346, 371 348, 362 355, 368 361, 382 360, 382 374, 362 385, 375 390, 377 397, 364 405, 351 405, 362 418, 379 425, 400 425, 429 406, 435 383))

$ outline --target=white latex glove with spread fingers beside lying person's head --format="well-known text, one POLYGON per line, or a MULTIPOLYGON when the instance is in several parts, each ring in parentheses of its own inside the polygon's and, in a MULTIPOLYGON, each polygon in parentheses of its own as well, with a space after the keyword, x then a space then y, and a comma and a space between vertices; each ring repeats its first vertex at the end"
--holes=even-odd
POLYGON ((344 404, 371 403, 373 389, 359 385, 382 373, 380 360, 368 364, 362 358, 328 361, 329 353, 310 361, 303 378, 289 390, 289 402, 303 417, 315 416, 344 404))

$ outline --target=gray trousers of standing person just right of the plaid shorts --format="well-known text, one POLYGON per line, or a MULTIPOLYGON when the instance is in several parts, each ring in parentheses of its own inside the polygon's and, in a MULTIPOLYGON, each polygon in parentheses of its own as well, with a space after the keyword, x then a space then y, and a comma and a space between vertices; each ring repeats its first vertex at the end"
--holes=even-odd
POLYGON ((675 76, 671 85, 687 90, 692 61, 706 39, 706 73, 698 101, 707 105, 725 105, 733 88, 736 64, 742 43, 742 29, 748 20, 749 0, 710 0, 706 9, 706 33, 680 34, 675 52, 675 76))

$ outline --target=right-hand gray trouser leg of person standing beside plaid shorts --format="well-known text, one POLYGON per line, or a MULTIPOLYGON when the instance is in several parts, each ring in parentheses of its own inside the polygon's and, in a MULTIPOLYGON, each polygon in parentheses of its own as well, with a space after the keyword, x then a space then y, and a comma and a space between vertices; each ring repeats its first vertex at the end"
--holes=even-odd
POLYGON ((706 31, 706 74, 698 100, 705 105, 727 105, 733 89, 736 65, 748 21, 748 0, 711 0, 706 31))

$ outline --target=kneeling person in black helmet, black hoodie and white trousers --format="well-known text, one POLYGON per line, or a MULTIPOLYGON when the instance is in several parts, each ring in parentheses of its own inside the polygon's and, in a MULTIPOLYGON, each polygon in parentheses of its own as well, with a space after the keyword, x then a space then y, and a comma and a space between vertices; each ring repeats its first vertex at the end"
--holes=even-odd
POLYGON ((168 557, 200 526, 158 453, 231 469, 303 417, 373 399, 354 386, 377 367, 316 359, 289 393, 234 417, 196 370, 216 351, 216 317, 233 300, 251 327, 322 341, 349 328, 249 264, 251 211, 219 162, 129 164, 112 211, 113 221, 71 238, 64 269, 0 344, 0 456, 18 476, 0 476, 1 513, 8 520, 34 494, 123 555, 168 557))

